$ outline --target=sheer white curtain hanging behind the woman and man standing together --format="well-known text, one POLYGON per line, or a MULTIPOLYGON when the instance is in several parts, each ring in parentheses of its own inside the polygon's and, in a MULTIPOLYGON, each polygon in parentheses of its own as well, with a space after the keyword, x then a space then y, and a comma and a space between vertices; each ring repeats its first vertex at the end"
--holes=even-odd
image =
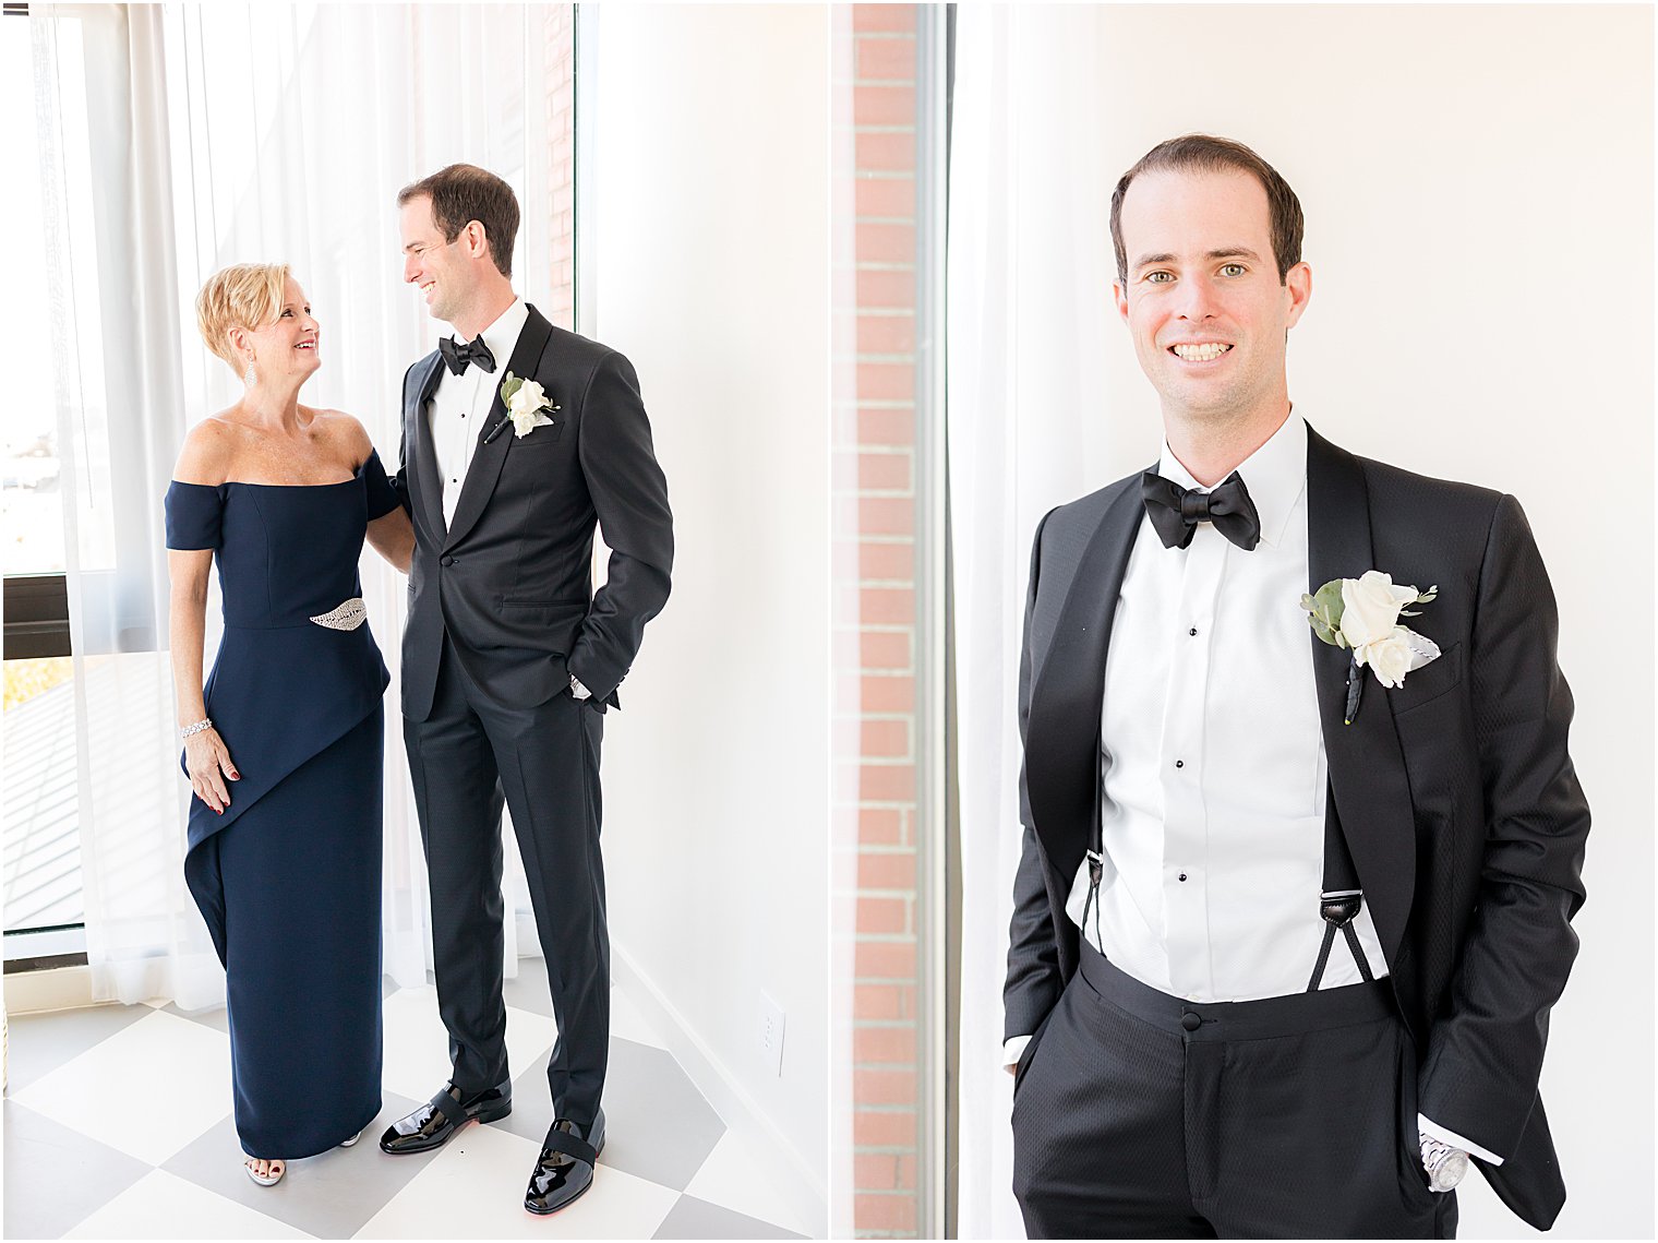
MULTIPOLYGON (((161 498, 186 428, 237 393, 196 334, 196 290, 230 262, 292 264, 323 325, 303 397, 355 413, 395 470, 401 377, 439 334, 401 284, 396 191, 463 159, 504 176, 524 209, 519 289, 547 302, 545 20, 524 5, 30 8, 60 443, 75 448, 78 810, 99 999, 197 1007, 224 987, 182 885, 166 657, 161 498)), ((421 984, 426 881, 396 710, 403 581, 368 554, 363 589, 393 670, 385 964, 421 984)), ((507 858, 509 909, 527 911, 507 858)), ((509 972, 516 933, 509 921, 509 972)))

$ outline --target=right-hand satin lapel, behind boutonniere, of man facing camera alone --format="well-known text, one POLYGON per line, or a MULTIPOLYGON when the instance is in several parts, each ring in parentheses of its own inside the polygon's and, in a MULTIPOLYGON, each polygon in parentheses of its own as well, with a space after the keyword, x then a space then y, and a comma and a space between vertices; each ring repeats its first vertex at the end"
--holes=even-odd
MULTIPOLYGON (((1370 496, 1358 460, 1307 430, 1307 578, 1308 591, 1330 579, 1383 569, 1370 538, 1370 496)), ((1323 642, 1308 626, 1318 719, 1330 760, 1336 815, 1358 868, 1381 951, 1398 961, 1416 878, 1416 818, 1404 773, 1404 752, 1393 725, 1393 702, 1370 669, 1358 715, 1343 724, 1351 652, 1323 642)))

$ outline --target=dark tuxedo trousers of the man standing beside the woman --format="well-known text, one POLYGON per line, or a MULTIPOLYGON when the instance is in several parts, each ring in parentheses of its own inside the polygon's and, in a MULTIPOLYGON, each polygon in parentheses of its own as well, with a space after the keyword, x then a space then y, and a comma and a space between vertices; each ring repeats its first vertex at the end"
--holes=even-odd
POLYGON ((501 808, 512 815, 559 1039, 554 1117, 594 1122, 610 1047, 610 931, 599 851, 604 717, 569 692, 506 707, 466 675, 444 636, 426 720, 403 719, 431 891, 438 1012, 454 1084, 511 1077, 501 996, 501 808))

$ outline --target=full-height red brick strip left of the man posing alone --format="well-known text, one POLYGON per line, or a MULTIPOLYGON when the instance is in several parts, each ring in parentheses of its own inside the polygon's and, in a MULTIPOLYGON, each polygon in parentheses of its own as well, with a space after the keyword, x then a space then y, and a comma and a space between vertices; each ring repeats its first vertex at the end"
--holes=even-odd
POLYGON ((852 1213, 920 1216, 915 753, 915 8, 852 5, 859 627, 852 1213))

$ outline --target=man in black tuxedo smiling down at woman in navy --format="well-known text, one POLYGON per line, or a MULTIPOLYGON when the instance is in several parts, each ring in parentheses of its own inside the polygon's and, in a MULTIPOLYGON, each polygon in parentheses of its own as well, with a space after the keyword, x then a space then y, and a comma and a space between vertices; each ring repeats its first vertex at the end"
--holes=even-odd
POLYGON ((517 199, 453 164, 398 194, 403 279, 454 337, 403 378, 396 486, 414 524, 403 737, 431 881, 451 1082, 380 1147, 426 1152, 512 1109, 501 996, 501 807, 512 812, 559 1041, 555 1120, 524 1206, 594 1178, 610 1037, 599 851, 605 707, 668 599, 667 483, 632 365, 512 290, 517 199), (610 546, 592 591, 595 523, 610 546))

